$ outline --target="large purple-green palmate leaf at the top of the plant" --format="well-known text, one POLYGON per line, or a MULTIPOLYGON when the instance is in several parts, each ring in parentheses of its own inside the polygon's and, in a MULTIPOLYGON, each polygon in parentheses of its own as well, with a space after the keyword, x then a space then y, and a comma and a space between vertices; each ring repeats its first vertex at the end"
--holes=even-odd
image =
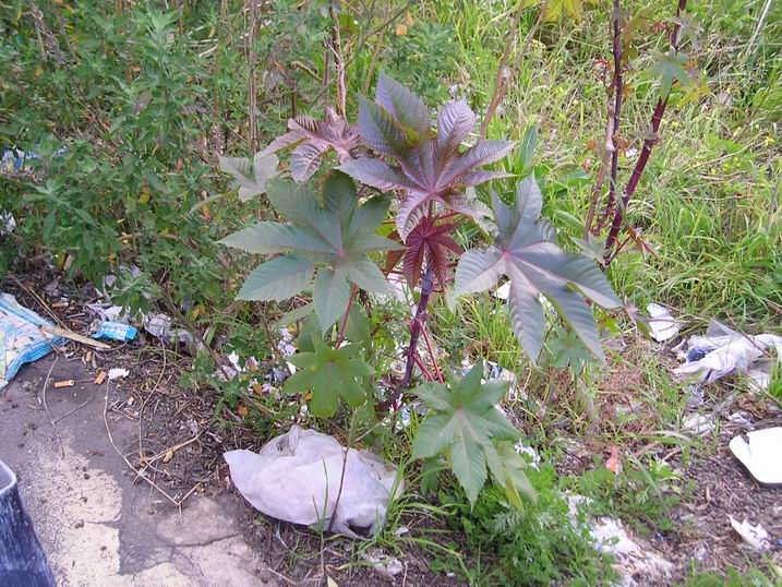
POLYGON ((515 143, 479 141, 460 152, 474 123, 476 115, 467 103, 453 101, 440 110, 437 132, 432 136, 432 122, 421 99, 381 74, 376 103, 360 99, 359 132, 370 148, 395 165, 366 156, 347 160, 339 169, 373 188, 401 193, 396 223, 406 240, 430 203, 467 213, 469 206, 460 195, 465 188, 508 176, 480 168, 502 159, 515 143))

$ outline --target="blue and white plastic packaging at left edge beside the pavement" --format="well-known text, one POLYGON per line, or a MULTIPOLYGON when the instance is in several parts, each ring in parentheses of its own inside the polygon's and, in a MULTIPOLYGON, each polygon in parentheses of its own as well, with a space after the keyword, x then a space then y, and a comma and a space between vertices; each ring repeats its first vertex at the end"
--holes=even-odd
POLYGON ((44 332, 48 320, 21 306, 10 294, 0 294, 0 390, 24 363, 33 362, 63 343, 61 336, 44 332))

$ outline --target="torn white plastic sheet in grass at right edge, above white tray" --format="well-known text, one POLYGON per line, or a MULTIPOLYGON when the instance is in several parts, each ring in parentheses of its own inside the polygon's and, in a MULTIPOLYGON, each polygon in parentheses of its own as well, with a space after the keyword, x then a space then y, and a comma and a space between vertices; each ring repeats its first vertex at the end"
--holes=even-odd
POLYGON ((749 376, 754 385, 765 390, 774 361, 782 360, 782 336, 737 333, 719 322, 709 324, 706 336, 691 336, 687 342, 685 363, 674 369, 678 375, 694 375, 712 383, 733 373, 749 376))

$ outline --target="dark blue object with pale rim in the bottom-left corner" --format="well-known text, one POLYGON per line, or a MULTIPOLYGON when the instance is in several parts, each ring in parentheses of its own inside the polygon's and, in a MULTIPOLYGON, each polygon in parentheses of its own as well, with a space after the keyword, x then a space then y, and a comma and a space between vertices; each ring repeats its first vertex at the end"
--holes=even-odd
POLYGON ((0 460, 0 585, 57 587, 33 520, 22 507, 16 476, 0 460))

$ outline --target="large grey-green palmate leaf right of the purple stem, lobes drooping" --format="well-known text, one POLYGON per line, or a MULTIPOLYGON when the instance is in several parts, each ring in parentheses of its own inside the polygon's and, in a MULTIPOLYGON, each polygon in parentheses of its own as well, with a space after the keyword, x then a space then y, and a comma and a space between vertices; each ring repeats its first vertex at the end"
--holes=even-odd
POLYGON ((495 242, 461 256, 456 267, 456 294, 486 290, 505 275, 510 284, 510 323, 533 361, 540 354, 546 324, 541 294, 587 348, 602 359, 594 316, 585 296, 603 308, 616 308, 619 300, 594 263, 553 242, 552 226, 539 219, 541 207, 540 190, 531 176, 519 183, 514 206, 493 197, 495 242))

